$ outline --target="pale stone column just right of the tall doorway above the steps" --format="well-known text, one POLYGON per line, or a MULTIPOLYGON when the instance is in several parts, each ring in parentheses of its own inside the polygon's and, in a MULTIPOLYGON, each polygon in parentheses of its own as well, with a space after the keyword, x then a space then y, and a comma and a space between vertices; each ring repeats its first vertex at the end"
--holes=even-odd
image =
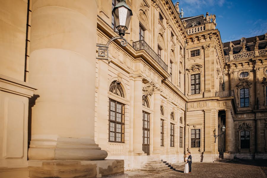
POLYGON ((160 153, 160 90, 154 90, 153 153, 160 153))

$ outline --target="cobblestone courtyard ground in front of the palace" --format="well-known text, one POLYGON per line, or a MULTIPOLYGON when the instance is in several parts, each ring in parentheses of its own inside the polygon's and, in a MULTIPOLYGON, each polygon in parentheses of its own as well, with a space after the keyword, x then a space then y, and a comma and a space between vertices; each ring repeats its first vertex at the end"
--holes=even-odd
POLYGON ((161 174, 125 171, 129 178, 267 178, 267 160, 241 160, 241 163, 193 163, 192 173, 168 171, 161 174))

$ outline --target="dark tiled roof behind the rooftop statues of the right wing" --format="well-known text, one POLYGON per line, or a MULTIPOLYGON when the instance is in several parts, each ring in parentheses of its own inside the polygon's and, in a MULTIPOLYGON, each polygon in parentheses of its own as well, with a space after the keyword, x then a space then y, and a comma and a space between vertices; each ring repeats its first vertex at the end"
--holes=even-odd
MULTIPOLYGON (((255 43, 254 43, 255 37, 256 36, 253 36, 253 37, 250 37, 250 38, 246 38, 245 46, 247 48, 247 51, 254 51, 254 49, 255 49, 255 43), (249 44, 249 43, 252 43, 252 44, 249 44)), ((264 35, 259 35, 258 38, 260 40, 259 50, 262 50, 262 49, 264 49, 266 47, 267 41, 263 41, 264 40, 264 35)), ((233 47, 233 54, 238 54, 242 49, 242 46, 240 45, 240 39, 232 41, 232 43, 235 45, 235 47, 233 47)), ((229 44, 230 44, 230 42, 223 43, 224 55, 229 55, 229 51, 230 51, 229 50, 229 44)))

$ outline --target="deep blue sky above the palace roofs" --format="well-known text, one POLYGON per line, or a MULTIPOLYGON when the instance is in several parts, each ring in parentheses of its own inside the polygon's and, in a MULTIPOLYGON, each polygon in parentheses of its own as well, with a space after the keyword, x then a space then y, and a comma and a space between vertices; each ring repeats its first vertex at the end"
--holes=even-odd
MULTIPOLYGON (((172 0, 175 4, 177 0, 172 0)), ((178 0, 184 17, 216 15, 222 42, 262 35, 267 32, 266 0, 178 0)))

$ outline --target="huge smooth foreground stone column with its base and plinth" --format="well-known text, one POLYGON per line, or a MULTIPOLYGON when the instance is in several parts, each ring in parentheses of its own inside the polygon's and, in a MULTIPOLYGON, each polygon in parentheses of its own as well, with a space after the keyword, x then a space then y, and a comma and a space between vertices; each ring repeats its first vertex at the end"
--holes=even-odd
POLYGON ((102 177, 107 166, 123 172, 123 161, 103 160, 107 152, 94 141, 96 1, 33 0, 32 7, 29 81, 38 90, 29 177, 102 177))

